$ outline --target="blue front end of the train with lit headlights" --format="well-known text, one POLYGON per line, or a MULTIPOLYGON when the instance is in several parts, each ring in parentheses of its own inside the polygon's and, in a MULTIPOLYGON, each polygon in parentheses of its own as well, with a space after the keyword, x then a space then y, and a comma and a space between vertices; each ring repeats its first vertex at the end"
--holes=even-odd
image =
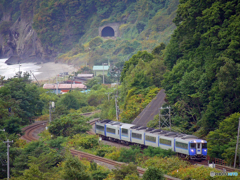
POLYGON ((207 158, 207 141, 201 139, 191 140, 189 142, 190 159, 204 160, 207 158))

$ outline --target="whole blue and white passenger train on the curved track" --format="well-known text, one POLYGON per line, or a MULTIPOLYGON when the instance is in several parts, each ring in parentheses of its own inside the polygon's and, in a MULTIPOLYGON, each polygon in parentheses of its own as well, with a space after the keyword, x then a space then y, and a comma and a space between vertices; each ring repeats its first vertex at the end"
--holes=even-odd
POLYGON ((181 157, 193 160, 204 160, 207 157, 207 141, 196 136, 147 128, 111 120, 95 123, 95 133, 102 139, 123 144, 139 144, 142 147, 152 146, 171 149, 181 157))

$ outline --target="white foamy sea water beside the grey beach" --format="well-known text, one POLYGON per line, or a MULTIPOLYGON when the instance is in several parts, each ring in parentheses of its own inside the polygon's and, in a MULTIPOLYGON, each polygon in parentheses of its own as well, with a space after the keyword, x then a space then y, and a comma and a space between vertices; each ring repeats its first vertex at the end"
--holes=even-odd
POLYGON ((41 72, 38 72, 38 70, 41 68, 40 65, 36 65, 34 63, 7 65, 5 63, 6 60, 7 59, 0 59, 0 75, 5 76, 5 79, 14 77, 16 73, 19 72, 19 67, 22 74, 24 72, 28 72, 30 74, 30 70, 34 75, 41 74, 41 72))

